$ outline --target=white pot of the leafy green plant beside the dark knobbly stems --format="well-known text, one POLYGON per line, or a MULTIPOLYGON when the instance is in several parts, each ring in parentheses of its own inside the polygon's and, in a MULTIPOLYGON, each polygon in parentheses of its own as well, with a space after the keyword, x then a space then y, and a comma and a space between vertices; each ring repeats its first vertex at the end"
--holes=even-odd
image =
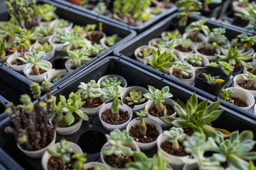
MULTIPOLYGON (((53 121, 53 118, 51 118, 49 120, 49 123, 50 123, 51 126, 53 126, 53 122, 52 121, 53 121)), ((57 128, 55 128, 55 130, 60 135, 71 135, 71 134, 77 132, 81 128, 81 125, 82 125, 82 119, 80 119, 79 122, 76 123, 75 125, 69 126, 67 128, 57 127, 57 128)))

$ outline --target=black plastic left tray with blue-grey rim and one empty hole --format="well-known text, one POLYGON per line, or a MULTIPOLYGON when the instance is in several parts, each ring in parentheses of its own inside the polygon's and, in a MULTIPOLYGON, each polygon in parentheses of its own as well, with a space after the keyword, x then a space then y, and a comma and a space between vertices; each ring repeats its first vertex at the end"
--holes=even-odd
MULTIPOLYGON (((52 4, 57 7, 56 14, 59 16, 59 18, 63 18, 65 20, 68 20, 70 22, 73 22, 74 25, 80 25, 85 26, 87 24, 97 24, 103 23, 103 32, 105 32, 107 35, 113 35, 118 34, 122 40, 117 42, 117 44, 110 47, 108 50, 105 50, 97 57, 92 58, 89 62, 83 64, 78 69, 75 69, 75 71, 71 72, 70 74, 66 75, 59 81, 56 81, 53 86, 51 86, 51 89, 54 89, 58 85, 62 84, 67 79, 72 78, 75 74, 78 74, 79 72, 82 72, 86 67, 88 67, 90 64, 93 64, 94 62, 97 62, 97 60, 101 60, 102 57, 105 57, 109 55, 115 48, 117 48, 119 45, 122 45, 124 42, 127 42, 127 40, 133 38, 136 35, 136 32, 134 30, 129 30, 129 28, 124 28, 122 26, 118 26, 117 24, 110 23, 109 21, 102 20, 100 18, 97 18, 96 16, 90 16, 87 13, 82 13, 81 11, 75 10, 74 8, 70 8, 68 6, 64 6, 62 4, 55 3, 54 1, 48 1, 48 0, 38 0, 38 4, 52 4)), ((0 18, 1 21, 1 18, 0 18)), ((55 52, 55 57, 50 60, 53 64, 53 68, 55 69, 65 69, 65 59, 63 57, 67 56, 64 52, 55 52)), ((0 79, 2 81, 6 81, 11 86, 15 86, 15 84, 22 84, 19 88, 25 88, 25 91, 29 92, 29 85, 32 83, 30 79, 27 79, 24 74, 20 74, 16 71, 14 71, 11 68, 6 67, 4 64, 0 63, 0 79), (4 75, 3 75, 4 74, 4 75), (6 77, 7 76, 7 77, 6 77), (9 77, 8 77, 9 76, 9 77)))

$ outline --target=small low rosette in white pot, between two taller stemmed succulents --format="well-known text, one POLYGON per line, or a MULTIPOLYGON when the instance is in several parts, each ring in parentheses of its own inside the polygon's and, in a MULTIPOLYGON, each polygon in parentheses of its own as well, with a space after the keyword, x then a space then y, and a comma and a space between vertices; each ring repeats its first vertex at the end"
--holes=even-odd
POLYGON ((146 93, 149 93, 149 91, 144 87, 130 86, 124 90, 121 99, 123 103, 132 108, 132 112, 137 112, 144 109, 146 103, 149 102, 148 99, 142 96, 146 93))

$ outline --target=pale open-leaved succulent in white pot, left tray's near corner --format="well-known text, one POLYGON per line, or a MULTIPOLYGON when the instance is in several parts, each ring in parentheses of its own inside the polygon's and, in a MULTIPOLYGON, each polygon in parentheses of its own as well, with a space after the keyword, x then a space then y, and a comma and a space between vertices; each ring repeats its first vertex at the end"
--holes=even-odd
POLYGON ((43 60, 46 57, 45 52, 35 51, 32 55, 25 55, 24 58, 18 57, 18 60, 25 63, 25 67, 23 68, 23 73, 36 82, 41 82, 45 79, 46 74, 52 68, 52 64, 46 60, 43 60))

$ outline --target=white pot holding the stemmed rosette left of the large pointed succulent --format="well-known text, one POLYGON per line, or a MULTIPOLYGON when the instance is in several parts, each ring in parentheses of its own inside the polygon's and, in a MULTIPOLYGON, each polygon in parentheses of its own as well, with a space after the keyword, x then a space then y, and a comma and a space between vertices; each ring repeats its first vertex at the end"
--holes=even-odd
MULTIPOLYGON (((173 105, 172 105, 173 102, 176 103, 173 99, 171 99, 171 98, 166 98, 166 99, 164 99, 163 104, 169 104, 169 105, 173 106, 173 105)), ((145 107, 146 111, 149 111, 149 108, 151 108, 151 106, 154 106, 154 101, 149 101, 149 103, 146 103, 146 107, 145 107)), ((161 119, 157 118, 156 116, 150 115, 149 113, 147 113, 146 115, 147 115, 149 118, 155 120, 157 123, 159 123, 159 125, 161 125, 161 127, 166 127, 166 126, 168 126, 167 123, 164 123, 161 119)), ((169 115, 169 116, 170 116, 170 117, 175 117, 175 116, 176 116, 176 112, 175 112, 174 114, 172 114, 172 115, 169 115)))

